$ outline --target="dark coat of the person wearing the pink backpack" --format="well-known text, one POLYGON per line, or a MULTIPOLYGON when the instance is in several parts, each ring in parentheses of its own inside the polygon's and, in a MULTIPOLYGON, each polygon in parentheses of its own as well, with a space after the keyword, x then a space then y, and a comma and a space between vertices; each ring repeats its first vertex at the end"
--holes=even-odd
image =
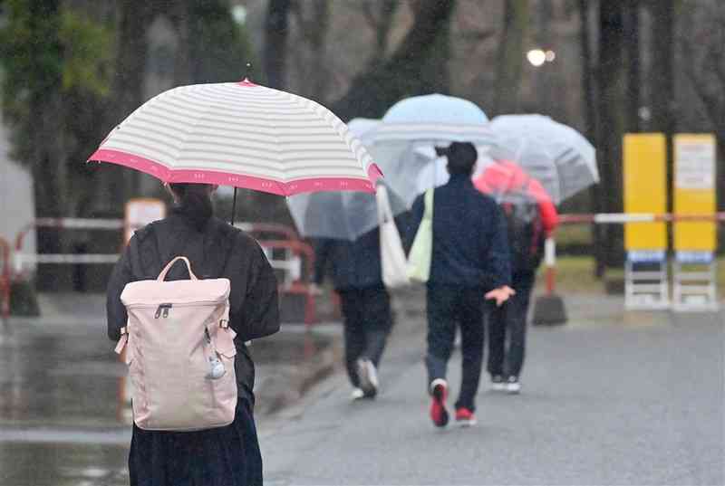
MULTIPOLYGON (((199 278, 225 277, 231 281, 229 325, 237 332, 237 387, 239 397, 254 404, 254 363, 244 343, 279 330, 277 281, 256 240, 218 218, 210 219, 199 232, 186 215, 174 211, 133 235, 108 283, 109 338, 118 340, 128 319, 121 303, 123 287, 130 281, 156 279, 178 255, 189 258, 199 278)), ((188 278, 183 262, 175 264, 167 276, 169 281, 188 278)))

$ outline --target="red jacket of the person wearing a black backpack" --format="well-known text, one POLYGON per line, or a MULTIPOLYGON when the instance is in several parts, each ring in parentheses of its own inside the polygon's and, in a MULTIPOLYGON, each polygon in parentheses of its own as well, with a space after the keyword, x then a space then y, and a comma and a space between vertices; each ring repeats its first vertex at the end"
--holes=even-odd
POLYGON ((473 184, 479 191, 493 196, 498 202, 505 200, 507 195, 523 194, 534 199, 538 204, 546 235, 553 233, 559 223, 556 206, 544 186, 515 162, 497 160, 489 164, 473 184))

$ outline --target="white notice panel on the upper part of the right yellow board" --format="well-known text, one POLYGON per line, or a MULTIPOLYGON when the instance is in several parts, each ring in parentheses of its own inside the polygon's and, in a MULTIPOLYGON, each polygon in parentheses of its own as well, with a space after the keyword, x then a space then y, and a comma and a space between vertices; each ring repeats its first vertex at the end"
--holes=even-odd
POLYGON ((715 186, 715 144, 710 138, 679 138, 674 144, 675 187, 712 190, 715 186))

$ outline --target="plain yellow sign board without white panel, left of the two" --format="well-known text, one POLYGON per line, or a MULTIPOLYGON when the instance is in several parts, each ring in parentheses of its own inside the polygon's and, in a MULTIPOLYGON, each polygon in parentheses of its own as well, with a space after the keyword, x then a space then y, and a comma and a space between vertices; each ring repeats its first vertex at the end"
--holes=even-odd
MULTIPOLYGON (((666 140, 661 133, 628 133, 623 144, 624 212, 667 212, 666 140)), ((629 251, 667 249, 664 223, 624 224, 629 251)))

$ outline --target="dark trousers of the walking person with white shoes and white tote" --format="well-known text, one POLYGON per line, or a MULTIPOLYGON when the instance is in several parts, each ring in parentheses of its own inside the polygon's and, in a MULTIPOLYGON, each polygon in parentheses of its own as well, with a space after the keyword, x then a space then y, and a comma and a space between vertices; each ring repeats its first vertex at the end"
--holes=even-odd
POLYGON ((353 386, 360 386, 356 362, 370 359, 380 366, 392 328, 391 299, 385 287, 338 291, 343 310, 345 365, 353 386))

